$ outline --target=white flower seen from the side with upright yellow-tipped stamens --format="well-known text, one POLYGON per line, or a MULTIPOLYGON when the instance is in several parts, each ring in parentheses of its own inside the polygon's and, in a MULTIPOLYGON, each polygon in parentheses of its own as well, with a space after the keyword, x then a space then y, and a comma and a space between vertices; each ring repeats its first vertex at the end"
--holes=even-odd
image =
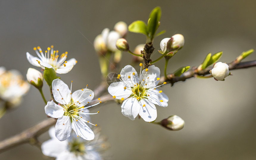
POLYGON ((26 53, 27 59, 30 64, 41 67, 42 69, 47 68, 54 68, 56 73, 64 74, 68 73, 74 65, 77 64, 77 60, 74 58, 69 59, 66 61, 68 52, 65 52, 58 55, 58 50, 54 51, 53 46, 48 47, 45 53, 43 53, 42 49, 38 46, 37 48, 34 47, 34 50, 38 57, 34 57, 29 52, 26 53))

